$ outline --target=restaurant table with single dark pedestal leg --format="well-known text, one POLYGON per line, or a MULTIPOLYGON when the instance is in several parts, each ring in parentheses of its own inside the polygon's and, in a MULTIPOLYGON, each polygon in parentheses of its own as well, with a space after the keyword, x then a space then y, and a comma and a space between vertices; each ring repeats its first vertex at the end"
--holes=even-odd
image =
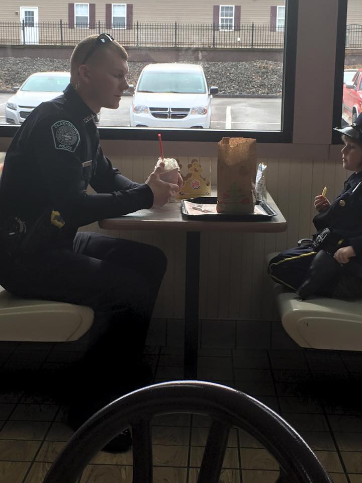
MULTIPOLYGON (((213 192, 213 196, 215 193, 213 192)), ((186 231, 185 276, 185 349, 184 376, 197 378, 199 281, 201 231, 280 232, 287 222, 273 198, 267 193, 267 203, 277 215, 266 221, 207 221, 183 218, 179 202, 167 203, 162 208, 139 210, 120 218, 101 220, 101 228, 109 230, 181 230, 186 231)))

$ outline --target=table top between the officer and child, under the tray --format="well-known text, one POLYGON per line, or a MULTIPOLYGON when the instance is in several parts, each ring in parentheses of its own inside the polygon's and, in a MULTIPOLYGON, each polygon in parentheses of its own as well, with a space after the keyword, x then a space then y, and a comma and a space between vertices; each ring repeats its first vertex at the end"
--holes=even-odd
MULTIPOLYGON (((214 195, 214 193, 213 193, 214 195)), ((135 213, 101 220, 101 228, 108 230, 152 230, 171 229, 183 231, 245 231, 245 232, 279 232, 287 229, 287 221, 267 193, 266 202, 277 215, 260 221, 227 221, 227 220, 190 220, 183 218, 181 203, 166 203, 162 208, 152 207, 135 213)))

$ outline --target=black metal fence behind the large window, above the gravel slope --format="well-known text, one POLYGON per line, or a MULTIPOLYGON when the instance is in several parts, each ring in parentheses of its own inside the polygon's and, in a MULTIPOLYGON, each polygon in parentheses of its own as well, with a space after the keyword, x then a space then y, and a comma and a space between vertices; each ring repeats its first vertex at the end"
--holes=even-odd
POLYGON ((246 24, 221 30, 216 24, 139 23, 117 28, 96 22, 69 27, 62 22, 0 22, 0 44, 75 45, 84 37, 109 32, 126 47, 283 48, 284 31, 268 24, 246 24))

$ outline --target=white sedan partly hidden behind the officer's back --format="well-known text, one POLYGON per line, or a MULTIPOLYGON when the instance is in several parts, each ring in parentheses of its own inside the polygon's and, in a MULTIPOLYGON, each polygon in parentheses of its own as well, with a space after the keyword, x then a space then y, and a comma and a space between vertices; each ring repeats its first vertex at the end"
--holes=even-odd
POLYGON ((20 88, 14 88, 17 93, 5 107, 6 122, 21 124, 39 104, 63 94, 69 79, 69 72, 36 72, 30 75, 20 88))

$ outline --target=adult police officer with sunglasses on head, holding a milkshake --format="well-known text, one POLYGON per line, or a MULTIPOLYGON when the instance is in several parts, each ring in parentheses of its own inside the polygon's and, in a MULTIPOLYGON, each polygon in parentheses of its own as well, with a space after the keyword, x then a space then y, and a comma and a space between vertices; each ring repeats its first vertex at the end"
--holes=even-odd
MULTIPOLYGON (((0 180, 0 284, 23 297, 91 306, 102 320, 72 394, 74 429, 146 382, 136 368, 166 269, 155 247, 77 228, 162 206, 179 189, 162 181, 162 165, 139 184, 103 154, 94 118, 102 107, 118 108, 128 89, 127 58, 108 34, 81 41, 70 59, 70 84, 24 121, 0 180)), ((124 436, 108 449, 126 449, 124 436)))

